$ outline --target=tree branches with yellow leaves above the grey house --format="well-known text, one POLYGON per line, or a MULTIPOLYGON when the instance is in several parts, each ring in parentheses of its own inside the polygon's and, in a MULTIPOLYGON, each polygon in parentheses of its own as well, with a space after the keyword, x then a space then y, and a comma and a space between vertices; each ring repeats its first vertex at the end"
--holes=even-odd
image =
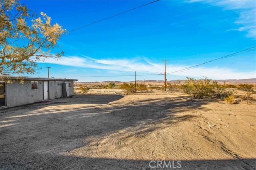
POLYGON ((33 74, 37 61, 63 55, 51 50, 66 30, 46 13, 40 15, 17 0, 0 0, 0 74, 33 74))

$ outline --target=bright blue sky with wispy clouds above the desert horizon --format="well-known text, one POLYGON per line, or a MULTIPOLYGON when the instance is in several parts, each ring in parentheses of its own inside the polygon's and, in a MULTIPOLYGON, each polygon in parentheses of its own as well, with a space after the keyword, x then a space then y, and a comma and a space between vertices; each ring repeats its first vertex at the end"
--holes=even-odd
MULTIPOLYGON (((147 0, 23 0, 37 14, 45 12, 68 31, 141 6, 147 0)), ((254 0, 160 0, 148 6, 63 35, 59 59, 38 66, 35 76, 79 81, 130 81, 134 77, 86 77, 167 73, 256 46, 254 0), (84 77, 83 77, 84 76, 84 77)), ((54 52, 54 51, 53 51, 54 52)), ((167 80, 206 76, 211 79, 256 78, 256 52, 241 53, 183 72, 167 80)), ((137 80, 164 80, 138 76, 137 80)))

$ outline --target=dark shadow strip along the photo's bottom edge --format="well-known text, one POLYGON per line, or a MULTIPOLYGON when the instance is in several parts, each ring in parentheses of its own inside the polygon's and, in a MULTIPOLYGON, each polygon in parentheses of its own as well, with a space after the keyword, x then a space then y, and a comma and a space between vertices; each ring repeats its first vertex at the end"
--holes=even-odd
POLYGON ((34 155, 28 162, 0 164, 2 170, 255 170, 256 159, 237 160, 120 160, 77 156, 34 155), (169 164, 170 162, 170 164, 169 164), (253 165, 253 166, 252 166, 253 165), (166 168, 166 166, 168 168, 166 168))

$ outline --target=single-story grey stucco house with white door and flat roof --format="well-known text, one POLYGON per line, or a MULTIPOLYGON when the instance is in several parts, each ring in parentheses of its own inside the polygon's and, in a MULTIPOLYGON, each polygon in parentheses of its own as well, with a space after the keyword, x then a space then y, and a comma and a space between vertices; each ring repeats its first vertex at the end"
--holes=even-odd
POLYGON ((74 94, 75 79, 0 76, 0 107, 19 106, 74 94), (23 81, 23 83, 20 82, 23 81))

